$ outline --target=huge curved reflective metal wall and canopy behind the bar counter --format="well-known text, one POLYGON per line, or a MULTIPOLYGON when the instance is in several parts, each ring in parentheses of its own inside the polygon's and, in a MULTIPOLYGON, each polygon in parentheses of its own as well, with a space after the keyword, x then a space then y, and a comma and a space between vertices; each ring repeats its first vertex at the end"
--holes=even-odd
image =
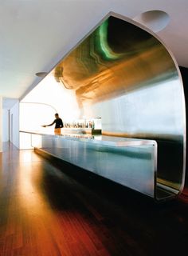
POLYGON ((53 73, 75 91, 80 117, 102 118, 103 134, 155 139, 158 181, 180 191, 186 154, 182 79, 163 43, 133 23, 109 16, 53 73))

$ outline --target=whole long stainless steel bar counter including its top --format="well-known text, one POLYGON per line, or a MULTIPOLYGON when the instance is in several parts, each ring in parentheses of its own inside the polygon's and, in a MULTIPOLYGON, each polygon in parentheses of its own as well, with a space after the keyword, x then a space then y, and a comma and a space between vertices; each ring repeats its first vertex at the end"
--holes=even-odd
POLYGON ((30 134, 32 146, 38 150, 156 200, 178 194, 158 182, 155 140, 79 133, 21 133, 30 134))

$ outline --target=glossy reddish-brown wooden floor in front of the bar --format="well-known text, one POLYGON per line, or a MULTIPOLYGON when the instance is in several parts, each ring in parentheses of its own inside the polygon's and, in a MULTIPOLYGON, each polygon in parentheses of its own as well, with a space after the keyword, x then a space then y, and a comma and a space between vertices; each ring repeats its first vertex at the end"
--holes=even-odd
POLYGON ((32 150, 0 154, 0 255, 188 255, 187 189, 156 204, 32 150))

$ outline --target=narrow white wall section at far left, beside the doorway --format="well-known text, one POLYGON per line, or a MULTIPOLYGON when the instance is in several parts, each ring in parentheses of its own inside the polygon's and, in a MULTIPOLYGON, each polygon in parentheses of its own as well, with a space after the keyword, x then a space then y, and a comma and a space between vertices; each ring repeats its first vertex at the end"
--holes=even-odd
POLYGON ((19 148, 19 102, 10 109, 10 142, 19 148))

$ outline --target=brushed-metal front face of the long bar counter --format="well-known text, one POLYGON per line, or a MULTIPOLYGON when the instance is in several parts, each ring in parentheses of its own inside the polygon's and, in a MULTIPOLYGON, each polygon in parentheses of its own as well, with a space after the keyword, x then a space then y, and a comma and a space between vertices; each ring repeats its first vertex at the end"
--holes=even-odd
MULTIPOLYGON (((114 140, 114 138, 108 139, 114 140)), ((118 146, 118 141, 116 145, 116 141, 111 143, 96 138, 79 139, 64 136, 56 138, 52 135, 41 135, 41 149, 84 170, 154 198, 155 144, 152 145, 153 142, 145 144, 142 140, 138 140, 137 146, 131 146, 132 140, 128 139, 129 146, 118 146), (114 145, 108 145, 108 142, 114 145)), ((36 142, 33 146, 39 148, 36 142)))

